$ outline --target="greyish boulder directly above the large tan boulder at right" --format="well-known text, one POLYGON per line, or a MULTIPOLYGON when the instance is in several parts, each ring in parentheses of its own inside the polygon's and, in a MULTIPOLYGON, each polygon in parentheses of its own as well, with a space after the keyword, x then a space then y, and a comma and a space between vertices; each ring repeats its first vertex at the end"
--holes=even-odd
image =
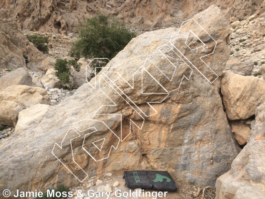
POLYGON ((249 76, 252 73, 254 62, 252 60, 241 61, 240 59, 230 56, 226 62, 224 72, 230 71, 238 75, 249 76))

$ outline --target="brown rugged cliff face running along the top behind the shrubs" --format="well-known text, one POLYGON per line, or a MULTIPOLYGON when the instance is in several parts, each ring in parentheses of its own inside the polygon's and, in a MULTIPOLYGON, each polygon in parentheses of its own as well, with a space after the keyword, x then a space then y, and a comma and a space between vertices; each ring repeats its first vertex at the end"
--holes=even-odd
POLYGON ((84 18, 118 14, 135 25, 161 25, 173 17, 191 17, 210 5, 221 7, 229 21, 247 19, 261 8, 263 0, 5 0, 0 7, 21 24, 23 29, 68 34, 77 32, 84 18))

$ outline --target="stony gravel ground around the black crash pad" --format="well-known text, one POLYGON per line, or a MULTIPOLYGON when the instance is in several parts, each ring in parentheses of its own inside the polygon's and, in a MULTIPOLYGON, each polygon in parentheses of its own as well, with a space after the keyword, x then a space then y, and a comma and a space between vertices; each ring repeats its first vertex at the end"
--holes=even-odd
MULTIPOLYGON (((157 197, 157 199, 214 199, 215 198, 215 187, 204 187, 196 185, 192 182, 185 181, 183 179, 174 179, 177 185, 177 192, 166 193, 166 197, 157 197), (196 193, 197 196, 195 195, 196 193), (195 196, 194 196, 195 195, 195 196)), ((149 197, 117 197, 115 196, 116 190, 121 190, 121 193, 124 192, 134 192, 136 189, 129 189, 125 186, 125 179, 123 179, 123 171, 118 171, 114 173, 108 173, 100 176, 95 176, 88 178, 81 186, 70 189, 74 193, 74 197, 69 199, 107 199, 107 196, 103 197, 91 197, 92 193, 111 191, 112 193, 109 196, 109 199, 152 199, 152 196, 149 197), (117 186, 116 186, 117 185, 117 186), (78 197, 78 190, 82 190, 84 197, 78 197), (88 196, 88 191, 90 191, 90 197, 88 196)), ((140 189, 137 189, 138 191, 140 189)), ((154 190, 144 190, 144 192, 157 192, 154 190)), ((117 191, 117 195, 120 193, 117 191)), ((80 196, 80 195, 79 195, 80 196)), ((155 196, 155 194, 153 195, 155 196)))

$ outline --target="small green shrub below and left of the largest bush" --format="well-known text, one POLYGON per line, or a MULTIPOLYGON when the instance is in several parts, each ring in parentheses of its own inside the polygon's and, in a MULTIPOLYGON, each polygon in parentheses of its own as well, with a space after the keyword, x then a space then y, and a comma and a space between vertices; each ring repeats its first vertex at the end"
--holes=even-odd
POLYGON ((77 63, 77 60, 57 59, 54 65, 55 75, 63 84, 70 83, 71 66, 79 72, 81 63, 77 63))

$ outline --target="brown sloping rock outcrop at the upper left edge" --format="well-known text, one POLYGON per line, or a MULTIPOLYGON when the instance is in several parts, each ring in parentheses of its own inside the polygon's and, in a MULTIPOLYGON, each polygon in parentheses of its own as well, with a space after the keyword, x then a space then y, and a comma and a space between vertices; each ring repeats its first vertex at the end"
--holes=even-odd
POLYGON ((16 69, 26 66, 23 55, 28 56, 30 64, 33 65, 46 58, 27 40, 6 10, 0 9, 0 68, 16 69))

